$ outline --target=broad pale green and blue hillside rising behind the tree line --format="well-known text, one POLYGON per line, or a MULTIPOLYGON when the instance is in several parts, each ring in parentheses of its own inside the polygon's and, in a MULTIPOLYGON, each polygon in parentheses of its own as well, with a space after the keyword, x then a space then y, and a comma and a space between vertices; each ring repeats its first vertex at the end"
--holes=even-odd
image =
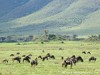
MULTIPOLYGON (((23 10, 27 10, 29 13, 23 15, 24 12, 22 12, 22 16, 19 18, 9 14, 17 19, 0 23, 2 35, 42 34, 44 29, 48 29, 50 33, 81 36, 100 33, 100 18, 98 17, 100 16, 100 0, 45 0, 43 4, 41 4, 43 0, 30 1, 36 2, 39 8, 37 7, 37 10, 33 11, 33 7, 27 9, 25 7, 23 10), (30 10, 32 10, 31 13, 30 10)), ((21 7, 27 6, 28 3, 21 7)), ((10 13, 18 14, 21 7, 10 13)), ((5 15, 6 19, 7 15, 5 15)))

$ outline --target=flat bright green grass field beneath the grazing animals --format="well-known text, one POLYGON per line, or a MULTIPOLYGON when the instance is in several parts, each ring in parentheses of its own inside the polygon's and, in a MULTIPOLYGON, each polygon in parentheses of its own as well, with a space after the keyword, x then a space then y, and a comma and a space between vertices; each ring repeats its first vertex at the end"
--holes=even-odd
MULTIPOLYGON (((14 56, 14 57, 15 57, 14 56)), ((100 75, 100 43, 99 42, 75 42, 66 41, 62 44, 60 41, 52 41, 41 44, 40 42, 21 43, 0 43, 0 75, 100 75), (62 48, 62 50, 59 50, 62 48), (45 52, 43 53, 42 50, 45 52), (82 51, 90 51, 90 54, 82 54, 82 51), (38 59, 38 66, 31 67, 27 62, 20 64, 12 62, 10 54, 20 52, 19 56, 32 54, 32 59, 39 55, 45 56, 47 53, 55 55, 55 60, 42 61, 38 59), (78 62, 73 69, 70 66, 62 67, 61 56, 82 56, 84 62, 78 62), (95 56, 97 61, 89 62, 88 59, 95 56), (2 63, 3 59, 9 59, 8 64, 2 63)))

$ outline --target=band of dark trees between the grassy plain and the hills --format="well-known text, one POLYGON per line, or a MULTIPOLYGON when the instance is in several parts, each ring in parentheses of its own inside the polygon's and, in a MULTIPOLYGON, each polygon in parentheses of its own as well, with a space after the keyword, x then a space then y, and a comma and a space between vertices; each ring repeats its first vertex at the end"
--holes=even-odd
POLYGON ((80 40, 89 40, 89 41, 100 41, 100 35, 91 35, 88 36, 88 38, 79 38, 78 35, 55 35, 55 34, 48 34, 45 32, 44 35, 29 35, 29 36, 1 36, 0 42, 32 42, 32 41, 42 41, 42 42, 48 42, 48 41, 80 41, 80 40))

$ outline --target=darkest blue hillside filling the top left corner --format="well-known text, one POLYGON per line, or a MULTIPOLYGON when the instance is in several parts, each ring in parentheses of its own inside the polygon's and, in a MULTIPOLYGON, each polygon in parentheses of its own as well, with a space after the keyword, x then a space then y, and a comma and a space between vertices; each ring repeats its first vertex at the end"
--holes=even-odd
MULTIPOLYGON (((0 0, 0 18, 28 1, 29 0, 0 0)), ((0 19, 0 21, 1 20, 2 19, 0 19)))

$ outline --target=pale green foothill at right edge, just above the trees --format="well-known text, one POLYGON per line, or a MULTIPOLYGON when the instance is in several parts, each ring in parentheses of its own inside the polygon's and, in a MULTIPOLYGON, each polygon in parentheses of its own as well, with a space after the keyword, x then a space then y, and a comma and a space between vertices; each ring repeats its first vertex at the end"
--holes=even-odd
POLYGON ((85 21, 76 27, 72 27, 64 32, 77 33, 80 35, 100 34, 100 10, 88 15, 85 21))

